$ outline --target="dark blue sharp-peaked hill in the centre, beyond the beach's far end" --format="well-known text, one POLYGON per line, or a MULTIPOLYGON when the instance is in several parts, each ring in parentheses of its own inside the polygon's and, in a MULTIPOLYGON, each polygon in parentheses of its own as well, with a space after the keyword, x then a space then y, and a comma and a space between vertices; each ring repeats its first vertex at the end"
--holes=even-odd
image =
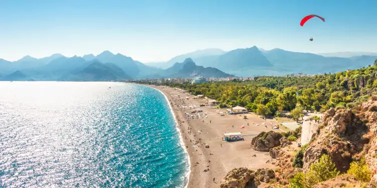
POLYGON ((217 68, 198 66, 192 58, 186 58, 183 62, 176 62, 171 67, 161 70, 150 77, 184 77, 193 78, 197 76, 204 77, 229 77, 234 76, 225 73, 217 68))

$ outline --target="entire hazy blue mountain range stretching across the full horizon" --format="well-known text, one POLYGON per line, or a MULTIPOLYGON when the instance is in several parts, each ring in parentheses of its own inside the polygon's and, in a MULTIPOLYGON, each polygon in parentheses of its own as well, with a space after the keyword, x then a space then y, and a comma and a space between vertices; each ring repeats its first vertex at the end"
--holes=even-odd
POLYGON ((284 49, 264 50, 257 46, 230 51, 210 48, 173 57, 167 62, 142 63, 110 51, 98 55, 66 57, 25 56, 17 61, 0 59, 0 80, 119 80, 161 77, 228 77, 285 75, 292 72, 316 74, 355 69, 372 64, 377 54, 339 52, 337 57, 293 52, 284 49))

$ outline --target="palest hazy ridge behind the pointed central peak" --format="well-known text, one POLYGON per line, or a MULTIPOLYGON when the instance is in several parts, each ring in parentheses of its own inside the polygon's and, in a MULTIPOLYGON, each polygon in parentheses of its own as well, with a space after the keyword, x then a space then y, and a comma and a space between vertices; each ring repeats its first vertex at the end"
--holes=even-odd
POLYGON ((198 58, 206 57, 206 56, 212 56, 212 55, 221 55, 226 53, 226 51, 218 48, 208 48, 208 49, 201 49, 196 50, 190 53, 185 53, 181 55, 177 55, 167 62, 156 62, 156 63, 148 63, 150 66, 155 66, 159 68, 168 68, 172 66, 176 62, 182 62, 186 58, 192 58, 194 60, 197 60, 198 58))

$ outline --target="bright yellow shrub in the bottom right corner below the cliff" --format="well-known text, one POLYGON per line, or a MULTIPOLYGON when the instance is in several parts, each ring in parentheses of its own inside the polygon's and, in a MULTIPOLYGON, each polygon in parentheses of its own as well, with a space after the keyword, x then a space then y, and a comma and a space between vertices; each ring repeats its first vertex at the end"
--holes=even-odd
POLYGON ((347 173, 355 176, 359 181, 370 181, 371 172, 366 166, 364 158, 360 161, 351 162, 347 173))

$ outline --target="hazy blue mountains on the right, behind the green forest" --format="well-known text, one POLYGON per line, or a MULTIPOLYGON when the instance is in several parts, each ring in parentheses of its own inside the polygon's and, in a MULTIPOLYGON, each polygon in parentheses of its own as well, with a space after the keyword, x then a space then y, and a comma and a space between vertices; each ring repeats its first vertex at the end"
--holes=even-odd
MULTIPOLYGON (((265 50, 252 46, 223 51, 223 53, 215 55, 200 53, 192 58, 198 65, 216 67, 236 76, 286 75, 294 72, 306 74, 338 72, 367 66, 377 59, 377 54, 374 55, 371 52, 355 52, 354 54, 361 55, 336 57, 328 54, 329 56, 323 56, 314 53, 287 51, 280 48, 265 50)), ((166 65, 170 65, 171 61, 177 57, 180 56, 173 57, 165 62, 166 65)), ((160 65, 160 67, 162 66, 160 65)))

